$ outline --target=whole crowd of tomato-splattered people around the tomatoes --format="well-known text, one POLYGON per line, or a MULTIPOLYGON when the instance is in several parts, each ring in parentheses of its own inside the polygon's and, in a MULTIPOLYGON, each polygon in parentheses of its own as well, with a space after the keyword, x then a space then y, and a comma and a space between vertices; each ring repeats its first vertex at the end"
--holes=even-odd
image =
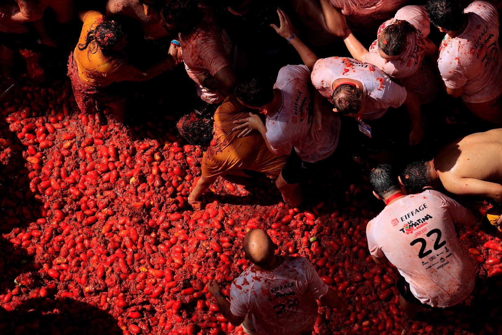
MULTIPOLYGON (((17 81, 13 70, 18 53, 26 60, 29 77, 45 80, 39 63, 42 46, 57 43, 46 29, 48 12, 61 27, 80 19, 81 33, 68 53, 67 66, 82 113, 104 113, 120 121, 127 109, 121 82, 144 81, 185 67, 201 103, 214 107, 207 108, 206 115, 178 123, 181 136, 205 149, 202 174, 188 197, 194 208, 200 207, 201 195, 218 176, 250 176, 253 171, 274 179, 285 202, 300 206, 301 182, 336 152, 342 128, 349 129, 351 137, 364 138, 368 152, 381 152, 380 138, 396 127, 388 110, 404 105, 401 109, 409 118, 400 119, 399 126, 409 129, 406 142, 416 145, 425 127, 421 105, 442 89, 460 97, 492 130, 458 139, 434 159, 410 164, 401 173, 389 164, 376 166, 370 182, 374 196, 386 207, 369 222, 366 235, 375 263, 389 261, 402 275, 400 304, 410 318, 421 306, 449 307, 472 291, 474 267, 454 225, 472 225, 474 216, 440 191, 502 202, 502 129, 496 129, 502 124, 500 4, 1 4, 2 73, 7 83, 17 81), (434 27, 444 34, 439 46, 429 38, 434 27), (368 37, 375 40, 366 47, 368 37), (333 47, 337 41, 343 41, 351 58, 333 47), (141 62, 148 67, 131 61, 128 43, 148 50, 141 62)), ((498 227, 501 220, 492 223, 498 227)), ((342 315, 347 312, 307 259, 276 256, 265 231, 250 230, 243 248, 253 266, 234 280, 229 299, 216 282, 211 281, 208 289, 223 316, 242 324, 246 333, 310 333, 317 317, 316 299, 342 315)))

